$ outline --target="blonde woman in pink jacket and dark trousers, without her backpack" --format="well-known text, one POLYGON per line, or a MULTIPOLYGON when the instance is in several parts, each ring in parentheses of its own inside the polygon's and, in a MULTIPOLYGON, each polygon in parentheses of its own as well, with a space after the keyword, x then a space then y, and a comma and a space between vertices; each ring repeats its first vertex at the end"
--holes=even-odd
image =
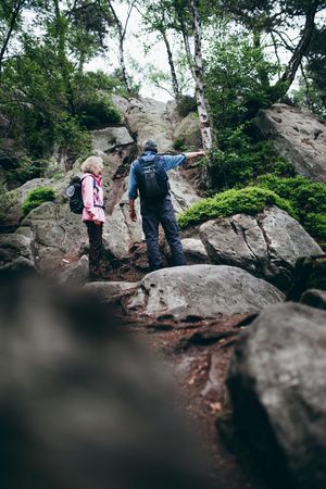
POLYGON ((105 221, 103 205, 102 173, 103 161, 99 156, 89 156, 82 163, 84 201, 83 221, 89 238, 89 278, 100 278, 100 256, 102 251, 102 231, 105 221))

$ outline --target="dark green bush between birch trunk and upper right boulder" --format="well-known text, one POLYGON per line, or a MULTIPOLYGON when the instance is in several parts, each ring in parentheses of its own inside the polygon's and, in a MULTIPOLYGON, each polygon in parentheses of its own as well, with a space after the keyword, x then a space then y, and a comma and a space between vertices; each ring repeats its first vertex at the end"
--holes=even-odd
POLYGON ((276 154, 272 141, 254 141, 246 134, 249 128, 247 123, 220 134, 220 148, 213 148, 206 160, 214 190, 243 187, 264 173, 279 176, 294 174, 292 165, 276 154))

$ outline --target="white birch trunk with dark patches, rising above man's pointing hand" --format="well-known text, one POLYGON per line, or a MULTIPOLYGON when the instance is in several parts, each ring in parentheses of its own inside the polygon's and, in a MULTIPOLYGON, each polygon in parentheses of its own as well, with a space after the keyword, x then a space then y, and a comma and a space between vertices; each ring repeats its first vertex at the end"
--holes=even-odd
POLYGON ((203 66, 201 51, 201 21, 198 12, 198 0, 191 0, 191 11, 195 26, 195 83, 200 130, 204 150, 210 150, 213 145, 212 127, 208 110, 208 102, 204 97, 203 66))

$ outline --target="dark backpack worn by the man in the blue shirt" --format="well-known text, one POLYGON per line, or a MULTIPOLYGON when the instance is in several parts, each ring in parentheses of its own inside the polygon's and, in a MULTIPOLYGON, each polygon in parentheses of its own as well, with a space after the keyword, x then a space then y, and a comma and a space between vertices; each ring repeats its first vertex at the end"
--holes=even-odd
POLYGON ((139 158, 135 164, 135 171, 141 199, 155 203, 167 196, 168 176, 161 156, 155 156, 152 161, 139 158))

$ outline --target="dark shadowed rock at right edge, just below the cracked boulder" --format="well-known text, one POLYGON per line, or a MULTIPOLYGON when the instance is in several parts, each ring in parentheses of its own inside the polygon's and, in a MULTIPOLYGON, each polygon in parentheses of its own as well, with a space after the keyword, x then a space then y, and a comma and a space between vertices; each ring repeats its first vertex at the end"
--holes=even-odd
POLYGON ((308 289, 326 290, 326 254, 297 260, 288 301, 299 301, 308 289))

